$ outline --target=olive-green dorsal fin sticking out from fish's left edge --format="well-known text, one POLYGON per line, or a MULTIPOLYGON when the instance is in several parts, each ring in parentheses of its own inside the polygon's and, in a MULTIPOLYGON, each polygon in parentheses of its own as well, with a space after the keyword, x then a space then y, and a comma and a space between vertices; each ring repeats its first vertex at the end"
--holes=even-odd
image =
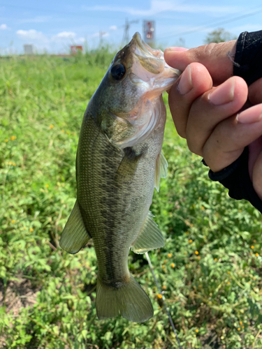
POLYGON ((73 211, 66 222, 61 234, 60 246, 68 253, 78 253, 78 251, 89 242, 88 232, 78 206, 78 200, 75 201, 73 211))

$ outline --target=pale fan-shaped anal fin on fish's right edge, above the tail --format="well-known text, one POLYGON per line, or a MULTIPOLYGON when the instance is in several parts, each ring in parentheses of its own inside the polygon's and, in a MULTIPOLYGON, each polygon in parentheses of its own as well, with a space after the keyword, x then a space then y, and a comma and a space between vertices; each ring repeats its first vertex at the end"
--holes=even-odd
POLYGON ((133 243, 133 246, 131 246, 133 252, 141 254, 155 248, 163 247, 165 244, 163 235, 152 217, 154 216, 149 211, 138 238, 133 243))

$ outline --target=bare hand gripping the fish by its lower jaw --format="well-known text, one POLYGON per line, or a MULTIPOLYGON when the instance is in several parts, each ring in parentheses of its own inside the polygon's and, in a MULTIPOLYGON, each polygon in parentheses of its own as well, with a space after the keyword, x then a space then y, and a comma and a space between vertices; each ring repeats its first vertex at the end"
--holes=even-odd
POLYGON ((249 175, 262 199, 262 79, 247 87, 232 76, 235 43, 167 49, 166 62, 183 71, 168 101, 177 133, 213 172, 249 146, 249 175))

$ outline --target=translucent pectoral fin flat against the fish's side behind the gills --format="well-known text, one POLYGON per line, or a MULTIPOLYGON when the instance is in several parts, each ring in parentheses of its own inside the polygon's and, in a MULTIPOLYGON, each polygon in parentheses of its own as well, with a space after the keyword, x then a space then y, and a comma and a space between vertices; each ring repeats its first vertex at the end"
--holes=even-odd
POLYGON ((131 147, 124 148, 124 158, 122 159, 117 173, 115 174, 115 181, 132 181, 133 176, 138 166, 138 161, 141 154, 136 155, 136 152, 131 147))

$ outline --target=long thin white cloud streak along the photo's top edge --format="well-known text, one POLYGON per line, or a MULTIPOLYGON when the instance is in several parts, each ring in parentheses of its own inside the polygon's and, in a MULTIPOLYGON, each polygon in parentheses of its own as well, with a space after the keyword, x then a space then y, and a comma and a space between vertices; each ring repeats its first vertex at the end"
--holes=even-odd
POLYGON ((100 11, 112 11, 112 12, 124 12, 129 15, 140 15, 140 16, 152 16, 162 12, 184 12, 184 13, 210 13, 217 15, 217 13, 227 14, 235 13, 241 10, 239 6, 201 6, 199 4, 192 3, 191 5, 183 5, 179 2, 168 1, 168 0, 152 0, 150 8, 147 10, 140 10, 138 8, 132 8, 127 6, 90 6, 84 7, 85 10, 100 10, 100 11))

